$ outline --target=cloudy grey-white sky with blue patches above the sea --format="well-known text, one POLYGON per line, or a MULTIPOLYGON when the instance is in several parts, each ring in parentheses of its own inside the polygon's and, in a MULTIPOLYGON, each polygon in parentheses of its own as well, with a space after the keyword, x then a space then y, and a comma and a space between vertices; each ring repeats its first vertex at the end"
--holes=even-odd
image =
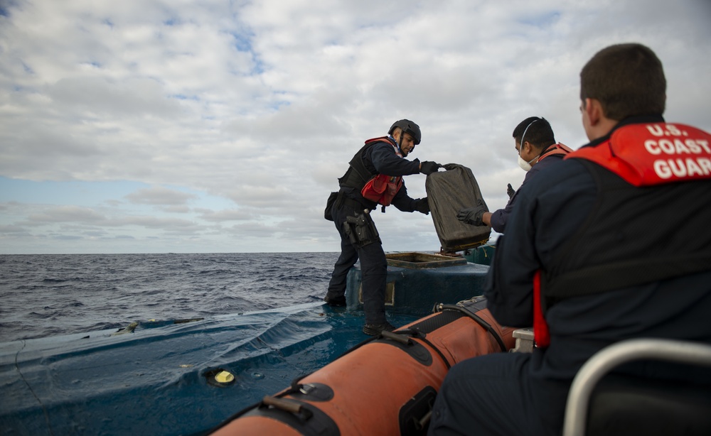
MULTIPOLYGON (((711 130, 710 23, 705 0, 0 0, 0 253, 338 251, 326 197, 401 118, 410 158, 503 207, 518 122, 586 142, 606 45, 655 50, 666 119, 711 130)), ((386 251, 439 249, 431 216, 375 221, 386 251)))

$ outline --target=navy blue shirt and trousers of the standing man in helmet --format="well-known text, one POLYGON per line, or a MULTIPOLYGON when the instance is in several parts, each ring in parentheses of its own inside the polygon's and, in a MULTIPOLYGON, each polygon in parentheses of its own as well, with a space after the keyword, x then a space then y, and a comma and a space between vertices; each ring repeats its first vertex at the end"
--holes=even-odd
MULTIPOLYGON (((397 156, 395 148, 387 142, 378 142, 367 148, 363 153, 363 163, 368 170, 378 174, 401 176, 419 173, 419 160, 407 160, 397 156)), ((378 204, 363 198, 358 188, 343 186, 341 194, 351 201, 343 202, 340 207, 336 203, 331 209, 333 222, 338 233, 341 234, 341 256, 333 267, 326 297, 333 299, 346 293, 348 271, 360 258, 365 324, 383 324, 386 322, 385 281, 387 278, 387 260, 383 245, 378 240, 365 246, 353 246, 343 229, 346 217, 363 213, 363 209, 373 210, 378 207, 378 204)), ((392 205, 402 212, 415 212, 416 204, 417 200, 407 195, 407 188, 403 182, 400 190, 392 198, 392 205)))

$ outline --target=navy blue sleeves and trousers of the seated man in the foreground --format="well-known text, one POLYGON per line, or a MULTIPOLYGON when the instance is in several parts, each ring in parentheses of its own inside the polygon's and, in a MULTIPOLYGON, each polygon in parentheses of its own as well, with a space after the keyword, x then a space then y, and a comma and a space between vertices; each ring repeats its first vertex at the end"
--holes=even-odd
MULTIPOLYGON (((619 126, 632 121, 663 120, 661 116, 630 119, 619 126)), ((535 271, 555 269, 562 247, 583 228, 602 199, 594 175, 578 159, 564 160, 554 170, 541 170, 517 197, 506 234, 498 240, 484 295, 501 325, 530 327, 535 271)), ((678 220, 683 226, 690 211, 698 210, 688 200, 680 198, 663 209, 621 213, 653 214, 667 222, 678 220)), ((705 207, 710 204, 708 198, 697 202, 705 207)), ((489 354, 451 369, 437 396, 429 434, 560 435, 570 383, 592 354, 636 337, 711 343, 710 313, 711 271, 561 300, 545 313, 550 347, 535 348, 533 354, 489 354)), ((626 366, 626 371, 710 382, 708 371, 681 368, 641 362, 626 366)))

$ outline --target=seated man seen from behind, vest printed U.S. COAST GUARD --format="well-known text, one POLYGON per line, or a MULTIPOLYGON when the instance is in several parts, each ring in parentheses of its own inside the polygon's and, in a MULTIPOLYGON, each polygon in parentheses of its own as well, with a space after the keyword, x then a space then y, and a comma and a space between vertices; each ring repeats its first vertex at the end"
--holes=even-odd
MULTIPOLYGON (((711 135, 666 122, 665 89, 644 45, 611 45, 583 67, 591 142, 520 192, 484 291, 499 323, 534 326, 536 347, 453 366, 429 435, 560 435, 572 378, 603 347, 711 344, 711 135)), ((626 368, 711 389, 707 369, 626 368)))

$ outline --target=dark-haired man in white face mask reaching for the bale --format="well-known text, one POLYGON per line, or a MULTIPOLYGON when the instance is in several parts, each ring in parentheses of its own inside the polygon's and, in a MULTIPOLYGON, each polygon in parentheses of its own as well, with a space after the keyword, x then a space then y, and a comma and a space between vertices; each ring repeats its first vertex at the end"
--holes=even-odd
MULTIPOLYGON (((550 124, 545 118, 539 118, 538 116, 530 116, 521 121, 513 129, 513 140, 518 153, 518 166, 527 172, 521 187, 540 170, 560 162, 567 153, 572 151, 562 143, 556 143, 550 124)), ((495 231, 503 233, 518 190, 513 190, 513 187, 508 185, 508 204, 503 209, 488 212, 482 203, 474 207, 460 209, 456 217, 459 221, 467 224, 474 226, 485 224, 491 226, 495 231)))

